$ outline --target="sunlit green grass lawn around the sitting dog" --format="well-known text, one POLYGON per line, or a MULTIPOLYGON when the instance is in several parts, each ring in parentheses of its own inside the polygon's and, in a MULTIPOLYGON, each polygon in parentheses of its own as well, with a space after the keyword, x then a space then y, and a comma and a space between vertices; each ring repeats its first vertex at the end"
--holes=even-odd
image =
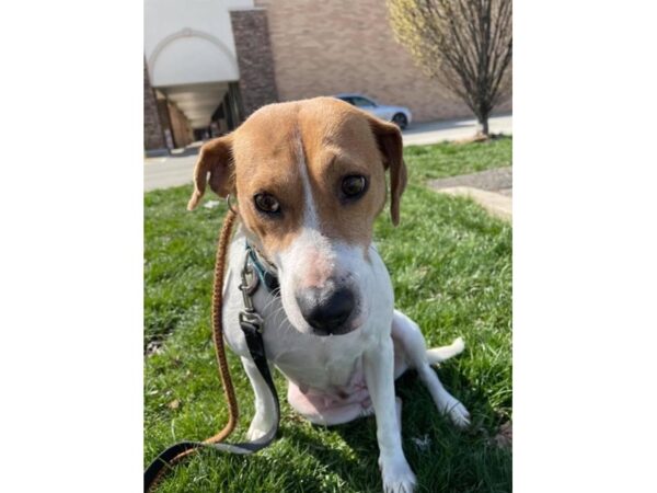
MULTIPOLYGON (((440 367, 445 386, 470 410, 473 426, 457 431, 410 371, 396 382, 403 399, 404 450, 418 491, 510 492, 511 454, 491 443, 511 416, 511 228, 474 203, 434 193, 429 177, 509 165, 511 140, 406 149, 410 185, 402 221, 376 222, 396 305, 423 328, 430 346, 458 335, 466 349, 440 367), (419 450, 413 438, 428 439, 419 450)), ((216 237, 223 207, 185 210, 189 187, 146 194, 145 461, 181 439, 220 429, 227 409, 210 339, 216 237), (172 405, 177 401, 178 405, 172 405)), ((238 359, 229 362, 244 436, 253 394, 238 359)), ((285 395, 280 376, 276 385, 285 395)), ((324 428, 281 402, 274 444, 252 457, 203 451, 165 477, 162 492, 380 492, 374 419, 324 428)))

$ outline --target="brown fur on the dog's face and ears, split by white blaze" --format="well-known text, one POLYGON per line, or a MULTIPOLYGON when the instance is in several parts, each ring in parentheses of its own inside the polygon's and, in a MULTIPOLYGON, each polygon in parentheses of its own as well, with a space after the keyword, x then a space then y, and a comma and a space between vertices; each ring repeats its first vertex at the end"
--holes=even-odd
MULTIPOLYGON (((205 190, 205 175, 222 182, 212 186, 220 195, 235 193, 245 227, 262 241, 265 255, 287 248, 298 234, 306 209, 299 169, 304 163, 321 232, 367 248, 372 223, 385 204, 385 170, 391 171, 391 215, 399 222, 399 202, 406 183, 399 129, 333 98, 315 98, 264 106, 230 137, 206 144, 196 171, 193 208, 205 190), (230 162, 218 163, 216 157, 230 162), (299 153, 303 156, 299 156, 299 153), (211 159, 210 159, 211 158, 211 159), (341 184, 349 174, 365 175, 367 193, 358 200, 339 199, 341 184), (234 179, 232 179, 234 176, 234 179), (274 195, 279 217, 257 210, 257 193, 274 195)), ((215 180, 215 183, 217 180, 215 180)))

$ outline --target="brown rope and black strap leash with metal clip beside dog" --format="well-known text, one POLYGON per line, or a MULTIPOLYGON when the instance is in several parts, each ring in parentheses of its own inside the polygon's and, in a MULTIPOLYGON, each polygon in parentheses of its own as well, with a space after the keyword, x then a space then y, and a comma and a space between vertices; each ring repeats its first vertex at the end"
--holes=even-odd
POLYGON ((238 444, 227 444, 223 440, 233 432, 238 424, 239 410, 238 400, 235 398, 235 390, 232 385, 230 370, 226 359, 226 347, 223 343, 223 325, 222 325, 222 303, 223 303, 223 277, 226 271, 226 254, 228 244, 230 241, 232 228, 237 218, 235 211, 232 207, 229 210, 223 220, 221 233, 219 234, 219 242, 217 245, 217 256, 215 262, 215 282, 212 290, 212 339, 215 341, 215 353, 217 356, 217 364, 219 366, 219 375, 221 377, 221 383, 226 400, 228 401, 228 423, 219 433, 204 442, 180 442, 166 448, 161 452, 146 469, 143 472, 143 491, 149 492, 154 490, 157 484, 162 479, 163 474, 171 470, 172 467, 183 458, 197 451, 200 448, 211 448, 229 454, 249 455, 254 454, 265 447, 267 447, 276 436, 278 431, 278 422, 280 420, 280 408, 278 403, 278 394, 276 393, 276 387, 272 374, 269 372, 269 366, 267 364, 267 357, 265 354, 265 345, 263 342, 263 326, 264 321, 260 313, 253 306, 252 296, 257 290, 258 286, 264 284, 266 288, 272 291, 278 287, 278 279, 275 275, 268 272, 257 259, 254 249, 246 243, 246 255, 244 259, 244 266, 242 268, 242 284, 240 290, 244 301, 244 309, 240 311, 239 323, 251 357, 263 379, 267 383, 274 402, 276 404, 276 419, 272 428, 261 438, 253 442, 242 442, 238 444))

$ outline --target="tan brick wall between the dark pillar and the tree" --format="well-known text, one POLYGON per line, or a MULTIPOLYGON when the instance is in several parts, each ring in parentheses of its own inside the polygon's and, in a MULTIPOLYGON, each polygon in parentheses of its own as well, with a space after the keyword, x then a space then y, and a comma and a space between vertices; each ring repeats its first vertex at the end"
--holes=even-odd
POLYGON ((255 4, 267 9, 281 101, 362 92, 381 103, 408 106, 414 121, 471 115, 428 80, 394 41, 384 0, 255 4))

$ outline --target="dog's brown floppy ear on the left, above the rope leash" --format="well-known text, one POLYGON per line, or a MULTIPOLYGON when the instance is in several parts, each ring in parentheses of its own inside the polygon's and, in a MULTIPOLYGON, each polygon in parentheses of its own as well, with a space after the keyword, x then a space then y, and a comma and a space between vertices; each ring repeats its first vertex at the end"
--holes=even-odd
POLYGON ((187 204, 188 210, 194 210, 203 197, 208 174, 210 175, 210 188, 217 195, 226 197, 231 192, 233 187, 231 150, 231 135, 212 139, 203 145, 196 168, 194 168, 194 193, 187 204))

